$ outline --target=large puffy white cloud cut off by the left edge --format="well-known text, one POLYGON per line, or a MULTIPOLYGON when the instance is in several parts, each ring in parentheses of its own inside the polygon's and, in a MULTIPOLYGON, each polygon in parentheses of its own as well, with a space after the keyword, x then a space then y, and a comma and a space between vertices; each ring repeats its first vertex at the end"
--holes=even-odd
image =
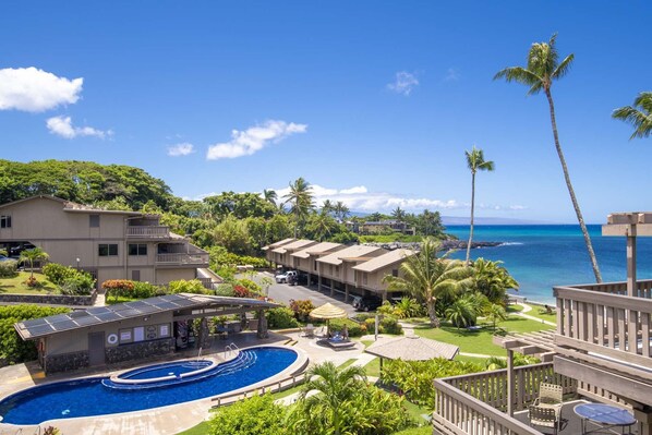
POLYGON ((0 70, 0 110, 40 112, 80 99, 84 78, 68 80, 31 68, 0 70))

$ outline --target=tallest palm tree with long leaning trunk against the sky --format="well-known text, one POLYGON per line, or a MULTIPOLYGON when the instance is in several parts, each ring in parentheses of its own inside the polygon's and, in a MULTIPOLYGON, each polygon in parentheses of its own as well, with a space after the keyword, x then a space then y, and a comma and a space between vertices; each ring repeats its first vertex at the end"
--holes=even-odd
POLYGON ((494 80, 505 78, 507 82, 516 81, 530 86, 528 95, 539 94, 541 90, 543 90, 547 97, 551 111, 551 123, 553 126, 553 136, 555 138, 555 147, 557 148, 557 155, 559 156, 559 162, 562 164, 562 170, 564 171, 564 178, 566 179, 566 186, 568 188, 570 201, 572 202, 577 219, 580 223, 582 234, 584 235, 584 242, 587 243, 587 251, 589 252, 589 258, 591 259, 591 266, 593 267, 595 280, 597 282, 602 282, 602 276, 600 275, 600 268, 597 267, 597 261, 595 259, 595 252, 593 251, 593 245, 591 244, 591 238, 589 237, 589 231, 587 230, 587 225, 584 223, 584 218, 582 217, 582 212, 580 210, 580 205, 575 196, 575 190, 572 189, 570 176, 568 173, 568 167, 566 166, 566 158, 564 157, 562 145, 559 144, 559 135, 557 134, 555 105, 553 102, 551 87, 553 85, 553 81, 562 78, 568 73, 570 70, 570 64, 575 59, 575 55, 568 55, 562 62, 559 62, 559 55, 557 53, 557 49, 555 47, 556 39, 557 34, 554 34, 548 43, 532 44, 528 55, 527 68, 506 68, 496 73, 494 80))

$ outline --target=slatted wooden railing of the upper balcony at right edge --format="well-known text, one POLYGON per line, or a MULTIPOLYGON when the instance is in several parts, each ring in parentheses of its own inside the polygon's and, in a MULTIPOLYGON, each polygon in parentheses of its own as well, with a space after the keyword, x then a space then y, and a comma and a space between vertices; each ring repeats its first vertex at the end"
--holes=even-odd
POLYGON ((555 287, 558 351, 579 359, 602 358, 611 360, 611 364, 652 370, 651 285, 652 281, 638 282, 641 297, 633 298, 621 294, 624 283, 555 287))

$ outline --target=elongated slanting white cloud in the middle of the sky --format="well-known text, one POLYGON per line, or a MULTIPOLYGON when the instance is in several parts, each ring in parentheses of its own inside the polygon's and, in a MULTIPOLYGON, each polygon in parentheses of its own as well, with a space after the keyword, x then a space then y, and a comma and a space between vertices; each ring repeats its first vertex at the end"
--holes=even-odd
POLYGON ((244 131, 233 130, 229 142, 210 145, 206 158, 237 158, 251 156, 270 143, 277 143, 295 133, 305 133, 306 124, 286 121, 265 121, 261 125, 250 126, 244 131))

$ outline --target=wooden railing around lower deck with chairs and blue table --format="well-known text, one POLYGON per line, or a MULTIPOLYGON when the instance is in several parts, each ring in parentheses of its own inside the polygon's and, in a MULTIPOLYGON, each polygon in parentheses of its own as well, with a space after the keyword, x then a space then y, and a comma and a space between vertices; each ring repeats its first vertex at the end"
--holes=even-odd
MULTIPOLYGON (((548 382, 576 390, 573 379, 558 375, 552 363, 515 367, 515 410, 526 409, 539 397, 539 386, 548 382)), ((435 379, 437 390, 433 423, 436 434, 541 434, 505 413, 507 370, 435 379)))

